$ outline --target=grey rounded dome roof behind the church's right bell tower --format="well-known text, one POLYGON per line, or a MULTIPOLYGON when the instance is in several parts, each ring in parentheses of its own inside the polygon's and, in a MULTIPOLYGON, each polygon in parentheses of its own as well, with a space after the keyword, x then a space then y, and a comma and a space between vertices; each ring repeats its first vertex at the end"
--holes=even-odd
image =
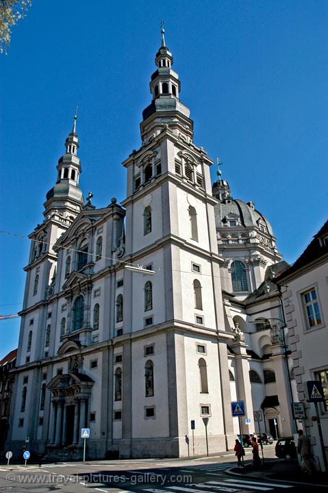
POLYGON ((213 184, 213 195, 220 200, 220 203, 214 205, 216 227, 221 228, 225 225, 227 217, 236 216, 240 220, 240 225, 244 227, 257 227, 260 225, 266 227, 270 236, 273 235, 273 229, 268 219, 257 211, 253 202, 244 202, 240 199, 233 199, 230 196, 229 184, 225 180, 218 180, 213 184))

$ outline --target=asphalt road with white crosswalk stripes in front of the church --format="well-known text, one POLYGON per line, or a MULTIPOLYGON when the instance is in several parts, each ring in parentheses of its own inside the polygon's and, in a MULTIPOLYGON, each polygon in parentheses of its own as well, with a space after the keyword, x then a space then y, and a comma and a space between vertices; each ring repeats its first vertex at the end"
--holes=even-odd
MULTIPOLYGON (((265 446, 267 458, 274 447, 265 446)), ((247 450, 245 462, 250 462, 247 450)), ((260 493, 308 492, 308 486, 265 478, 227 475, 234 455, 201 459, 138 459, 125 461, 0 466, 0 493, 260 493)))

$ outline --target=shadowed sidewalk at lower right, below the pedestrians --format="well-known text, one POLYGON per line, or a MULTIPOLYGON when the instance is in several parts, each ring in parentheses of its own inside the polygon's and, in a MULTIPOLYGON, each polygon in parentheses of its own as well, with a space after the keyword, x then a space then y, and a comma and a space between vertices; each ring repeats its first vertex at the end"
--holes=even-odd
POLYGON ((314 472, 312 475, 309 475, 301 471, 297 461, 285 462, 284 460, 267 459, 261 468, 253 469, 253 466, 248 464, 242 469, 231 468, 225 472, 232 476, 275 479, 276 481, 325 486, 325 488, 328 485, 327 472, 314 472))

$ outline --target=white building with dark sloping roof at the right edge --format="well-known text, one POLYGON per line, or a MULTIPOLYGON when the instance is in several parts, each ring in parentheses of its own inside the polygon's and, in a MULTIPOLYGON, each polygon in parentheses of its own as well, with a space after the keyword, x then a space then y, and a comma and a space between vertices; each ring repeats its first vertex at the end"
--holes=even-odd
MULTIPOLYGON (((325 400, 318 403, 328 459, 328 221, 294 264, 277 277, 283 292, 290 349, 297 383, 297 401, 305 407, 305 430, 314 455, 324 469, 314 403, 308 401, 307 381, 320 381, 325 400)), ((327 460, 326 459, 326 460, 327 460)))

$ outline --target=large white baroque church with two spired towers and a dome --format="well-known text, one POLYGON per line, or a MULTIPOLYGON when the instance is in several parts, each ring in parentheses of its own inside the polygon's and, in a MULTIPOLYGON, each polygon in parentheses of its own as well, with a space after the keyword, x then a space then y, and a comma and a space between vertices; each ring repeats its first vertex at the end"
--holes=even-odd
POLYGON ((96 209, 79 188, 76 116, 31 250, 7 445, 47 457, 184 457, 233 448, 242 433, 290 435, 294 382, 273 230, 231 197, 193 141, 190 110, 162 32, 123 162, 127 198, 96 209), (140 268, 139 266, 142 266, 140 268), (283 337, 285 336, 285 337, 283 337))

